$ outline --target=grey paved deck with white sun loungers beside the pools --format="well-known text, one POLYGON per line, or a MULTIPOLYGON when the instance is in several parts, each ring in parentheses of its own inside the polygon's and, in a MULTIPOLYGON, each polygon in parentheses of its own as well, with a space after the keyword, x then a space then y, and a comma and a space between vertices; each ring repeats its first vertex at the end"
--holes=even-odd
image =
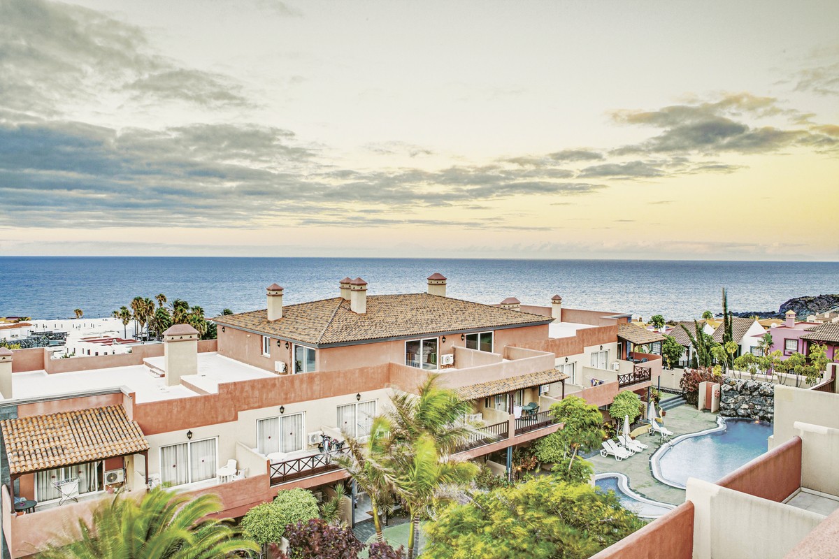
MULTIPOLYGON (((716 413, 698 411, 695 407, 686 404, 667 411, 667 416, 664 417, 664 427, 674 432, 674 436, 683 435, 686 432, 703 431, 716 425, 716 413)), ((649 445, 649 448, 620 462, 615 460, 613 456, 603 458, 599 453, 586 459, 594 465, 594 471, 597 474, 620 472, 626 475, 629 478, 629 489, 644 495, 648 499, 670 503, 671 505, 684 503, 684 489, 676 489, 670 487, 670 485, 662 484, 653 477, 649 466, 649 458, 660 446, 659 437, 644 432, 637 437, 637 440, 649 445)))

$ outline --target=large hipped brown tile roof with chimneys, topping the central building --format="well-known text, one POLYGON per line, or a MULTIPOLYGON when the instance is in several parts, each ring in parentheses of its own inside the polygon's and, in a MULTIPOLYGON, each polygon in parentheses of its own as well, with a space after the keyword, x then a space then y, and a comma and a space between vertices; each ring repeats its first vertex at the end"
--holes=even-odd
POLYGON ((213 322, 232 328, 315 345, 547 324, 551 320, 540 314, 428 293, 370 295, 363 314, 353 313, 347 300, 336 297, 286 305, 283 318, 273 322, 268 322, 265 310, 212 318, 213 322))

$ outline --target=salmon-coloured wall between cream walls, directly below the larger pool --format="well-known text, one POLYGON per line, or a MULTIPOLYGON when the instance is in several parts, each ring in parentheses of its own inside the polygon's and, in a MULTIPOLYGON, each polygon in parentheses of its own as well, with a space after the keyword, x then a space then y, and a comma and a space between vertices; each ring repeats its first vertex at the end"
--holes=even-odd
POLYGON ((717 485, 779 503, 801 487, 801 437, 743 464, 717 485))

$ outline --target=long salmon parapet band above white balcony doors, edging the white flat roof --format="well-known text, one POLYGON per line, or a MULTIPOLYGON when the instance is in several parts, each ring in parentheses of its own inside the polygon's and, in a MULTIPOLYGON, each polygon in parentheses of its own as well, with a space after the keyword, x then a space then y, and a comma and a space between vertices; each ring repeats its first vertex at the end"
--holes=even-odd
POLYGON ((389 380, 388 365, 378 365, 229 382, 220 384, 217 394, 136 404, 133 419, 154 435, 233 422, 238 411, 378 390, 389 380))

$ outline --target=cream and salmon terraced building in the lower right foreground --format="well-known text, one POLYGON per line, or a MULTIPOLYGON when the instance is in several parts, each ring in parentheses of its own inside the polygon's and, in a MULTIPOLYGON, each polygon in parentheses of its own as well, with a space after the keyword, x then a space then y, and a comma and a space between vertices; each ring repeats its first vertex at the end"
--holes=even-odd
POLYGON ((769 452, 715 483, 690 478, 685 503, 592 559, 821 559, 839 541, 836 364, 810 390, 774 387, 769 452))

